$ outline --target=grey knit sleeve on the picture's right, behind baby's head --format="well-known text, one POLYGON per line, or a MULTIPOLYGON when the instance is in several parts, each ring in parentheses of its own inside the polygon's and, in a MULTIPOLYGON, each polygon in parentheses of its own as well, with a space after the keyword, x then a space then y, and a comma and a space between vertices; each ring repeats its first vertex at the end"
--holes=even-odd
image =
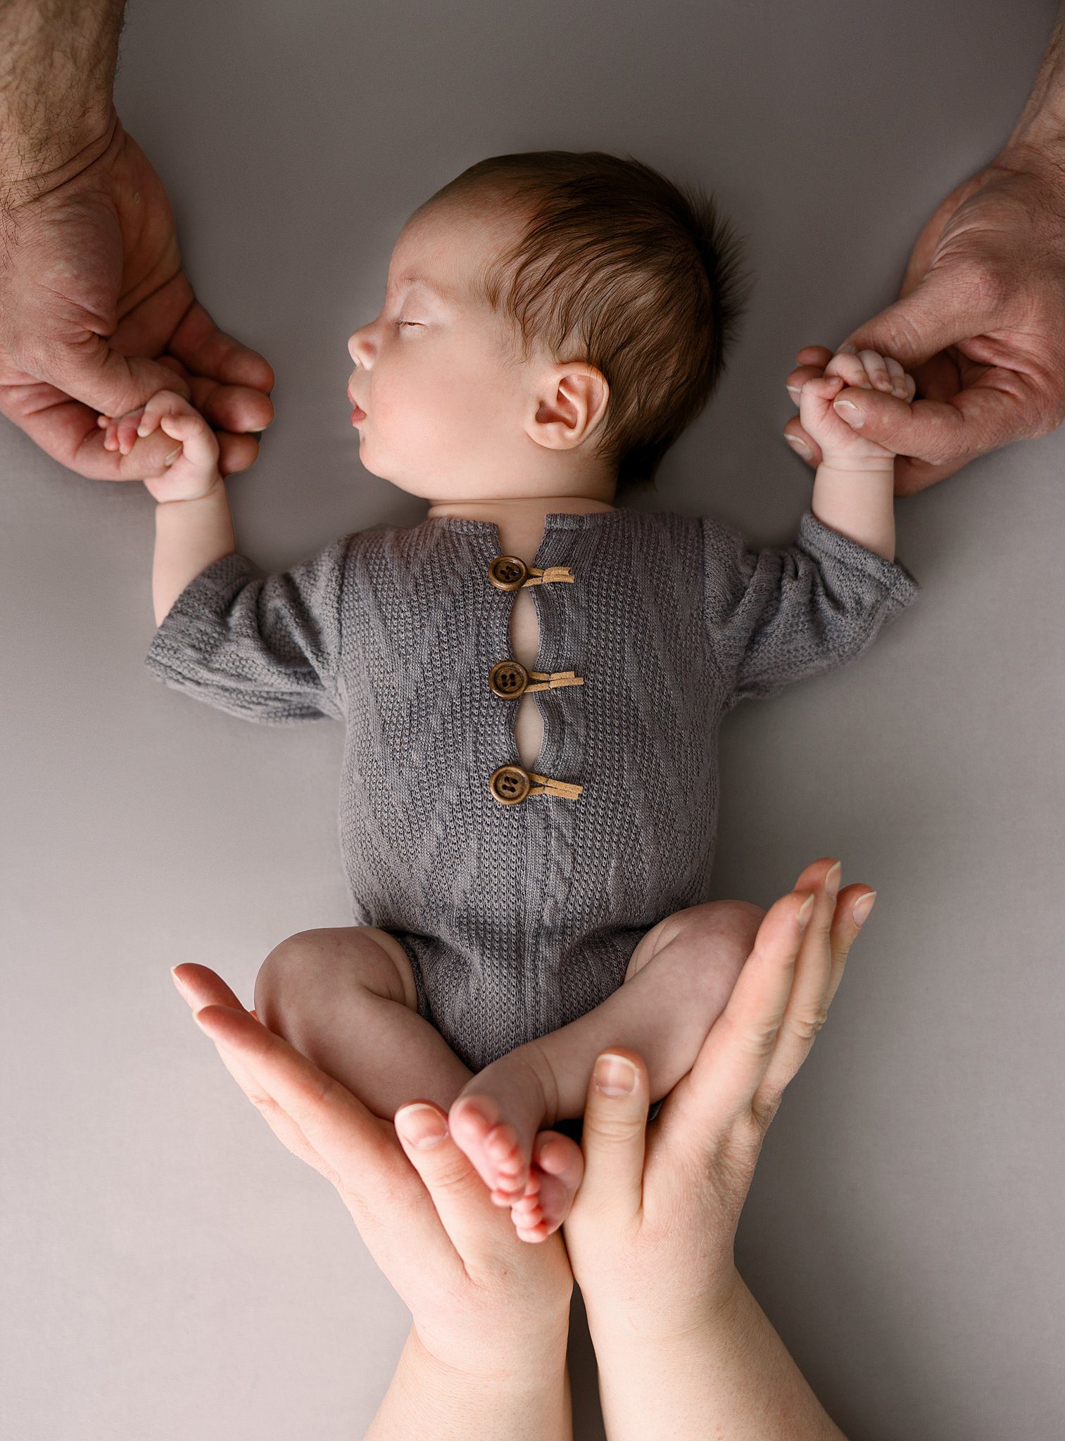
POLYGON ((725 709, 855 660, 918 589, 904 565, 813 510, 794 545, 765 550, 749 550, 738 530, 703 517, 705 615, 725 709))

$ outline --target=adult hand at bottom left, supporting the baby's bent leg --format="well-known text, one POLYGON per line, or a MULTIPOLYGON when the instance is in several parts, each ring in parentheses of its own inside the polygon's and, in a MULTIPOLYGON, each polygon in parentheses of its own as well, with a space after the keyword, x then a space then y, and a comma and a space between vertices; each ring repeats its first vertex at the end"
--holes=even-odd
MULTIPOLYGON (((510 1212, 447 1133, 447 1115, 401 1108, 419 1150, 246 1012, 206 965, 173 970, 195 1020, 274 1134, 339 1192, 373 1259, 408 1306, 425 1349, 458 1375, 502 1376, 565 1357, 572 1272, 561 1235, 519 1241, 510 1212)), ((559 1370, 562 1366, 559 1366, 559 1370)))

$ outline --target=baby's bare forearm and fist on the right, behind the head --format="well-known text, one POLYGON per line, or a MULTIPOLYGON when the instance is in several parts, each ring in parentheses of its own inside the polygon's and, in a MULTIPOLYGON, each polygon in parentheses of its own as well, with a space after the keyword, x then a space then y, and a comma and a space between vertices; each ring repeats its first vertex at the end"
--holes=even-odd
POLYGON ((912 401, 917 385, 898 360, 873 350, 837 350, 821 376, 803 385, 798 412, 821 447, 810 509, 817 519, 886 561, 895 559, 895 454, 852 429, 833 401, 845 386, 891 391, 912 401))

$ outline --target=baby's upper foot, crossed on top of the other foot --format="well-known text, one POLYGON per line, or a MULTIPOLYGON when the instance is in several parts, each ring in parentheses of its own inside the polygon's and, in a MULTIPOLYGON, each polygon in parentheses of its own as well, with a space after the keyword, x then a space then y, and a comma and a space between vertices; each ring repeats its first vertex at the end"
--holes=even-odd
POLYGON ((539 1189, 539 1176, 530 1176, 532 1146, 543 1123, 555 1120, 553 1089, 536 1048, 519 1046, 473 1076, 451 1105, 448 1130, 499 1205, 539 1189))

